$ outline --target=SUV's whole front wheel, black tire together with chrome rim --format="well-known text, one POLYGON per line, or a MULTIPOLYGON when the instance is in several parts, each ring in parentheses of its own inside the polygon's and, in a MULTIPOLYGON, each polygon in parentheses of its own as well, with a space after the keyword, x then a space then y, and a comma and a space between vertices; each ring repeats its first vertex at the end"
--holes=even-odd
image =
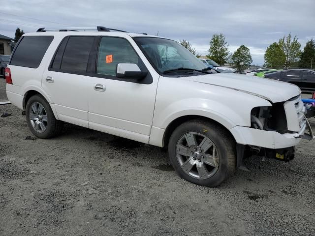
POLYGON ((217 186, 236 169, 235 142, 215 122, 181 124, 170 137, 168 152, 177 174, 198 185, 217 186))

